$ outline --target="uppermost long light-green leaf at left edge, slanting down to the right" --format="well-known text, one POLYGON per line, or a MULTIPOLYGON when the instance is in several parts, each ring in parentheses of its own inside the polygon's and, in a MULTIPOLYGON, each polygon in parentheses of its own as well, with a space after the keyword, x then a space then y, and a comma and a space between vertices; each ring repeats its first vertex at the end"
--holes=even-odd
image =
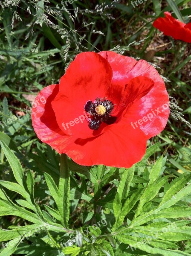
POLYGON ((15 179, 17 180, 20 186, 24 187, 23 186, 24 172, 18 158, 14 155, 14 153, 3 141, 0 141, 0 145, 11 166, 15 179))

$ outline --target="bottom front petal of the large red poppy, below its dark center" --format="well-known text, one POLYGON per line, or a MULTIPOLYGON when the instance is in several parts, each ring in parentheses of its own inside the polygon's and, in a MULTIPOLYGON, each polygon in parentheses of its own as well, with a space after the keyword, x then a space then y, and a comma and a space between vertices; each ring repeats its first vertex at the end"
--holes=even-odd
POLYGON ((134 130, 125 122, 107 128, 96 138, 76 140, 67 148, 67 155, 76 163, 87 166, 104 164, 129 168, 142 159, 147 140, 141 130, 134 130))

